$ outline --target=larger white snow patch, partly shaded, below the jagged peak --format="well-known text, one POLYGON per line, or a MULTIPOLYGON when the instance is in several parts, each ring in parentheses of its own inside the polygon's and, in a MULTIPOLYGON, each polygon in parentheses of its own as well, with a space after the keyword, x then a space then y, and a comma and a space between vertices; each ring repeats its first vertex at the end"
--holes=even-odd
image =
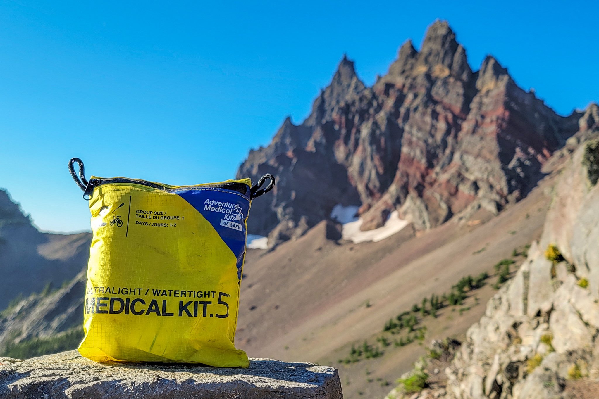
POLYGON ((407 220, 400 219, 398 211, 393 211, 391 212, 391 215, 389 215, 385 225, 379 227, 379 229, 362 232, 360 227, 364 221, 362 218, 357 218, 355 216, 358 208, 358 206, 343 206, 339 204, 335 205, 331 212, 331 218, 343 225, 341 227, 341 237, 344 240, 350 240, 355 244, 367 241, 378 242, 384 240, 391 237, 393 234, 400 232, 401 229, 409 224, 407 220))

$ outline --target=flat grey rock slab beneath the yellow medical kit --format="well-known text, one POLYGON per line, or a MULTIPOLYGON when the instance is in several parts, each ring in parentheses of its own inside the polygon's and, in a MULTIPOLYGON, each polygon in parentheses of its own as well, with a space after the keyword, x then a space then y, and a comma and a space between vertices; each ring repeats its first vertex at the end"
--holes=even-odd
POLYGON ((341 399, 335 368, 250 359, 249 368, 190 364, 95 363, 77 351, 29 360, 0 358, 4 399, 341 399))

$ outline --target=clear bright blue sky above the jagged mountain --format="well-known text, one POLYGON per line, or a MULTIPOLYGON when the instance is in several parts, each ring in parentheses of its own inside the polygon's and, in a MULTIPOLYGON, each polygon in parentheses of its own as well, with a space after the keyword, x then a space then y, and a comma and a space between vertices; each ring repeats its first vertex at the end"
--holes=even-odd
POLYGON ((0 187, 43 230, 89 230, 66 162, 169 184, 235 175, 301 122, 344 53, 372 84, 446 19, 560 114, 599 100, 599 2, 0 2, 0 187))

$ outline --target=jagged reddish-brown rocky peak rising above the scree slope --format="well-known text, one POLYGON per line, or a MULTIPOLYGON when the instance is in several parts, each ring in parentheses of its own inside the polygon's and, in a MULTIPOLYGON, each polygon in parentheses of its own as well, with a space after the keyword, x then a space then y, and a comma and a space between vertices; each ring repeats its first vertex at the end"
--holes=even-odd
POLYGON ((252 204, 249 232, 270 234, 272 245, 337 203, 361 205, 365 230, 395 209, 418 229, 479 209, 496 214, 537 184, 581 115, 555 114, 491 56, 473 72, 455 33, 437 21, 420 51, 407 41, 373 87, 343 57, 310 116, 299 126, 287 118, 267 148, 250 151, 238 176, 273 173, 277 185, 252 204))

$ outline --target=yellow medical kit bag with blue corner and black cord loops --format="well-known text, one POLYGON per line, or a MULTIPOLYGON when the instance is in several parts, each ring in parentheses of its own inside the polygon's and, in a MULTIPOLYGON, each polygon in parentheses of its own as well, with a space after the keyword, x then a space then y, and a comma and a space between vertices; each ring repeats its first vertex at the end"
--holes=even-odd
POLYGON ((273 188, 273 176, 254 187, 250 179, 185 186, 87 181, 78 158, 69 171, 92 214, 80 354, 99 362, 248 367, 234 345, 246 220, 251 200, 273 188))

